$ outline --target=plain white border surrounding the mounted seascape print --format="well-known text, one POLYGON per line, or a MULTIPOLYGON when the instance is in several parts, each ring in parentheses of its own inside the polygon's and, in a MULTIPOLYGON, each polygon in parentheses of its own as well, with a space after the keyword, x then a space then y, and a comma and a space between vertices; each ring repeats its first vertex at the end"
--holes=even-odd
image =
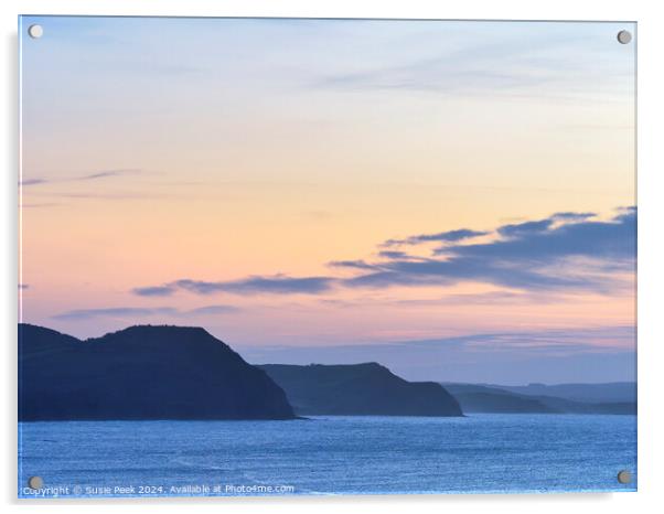
POLYGON ((664 366, 662 320, 664 280, 664 108, 662 72, 664 18, 658 2, 647 0, 471 0, 457 2, 425 0, 96 0, 57 2, 3 0, 2 79, 3 119, 0 125, 0 156, 4 159, 2 182, 2 253, 0 320, 2 324, 2 468, 0 489, 9 512, 32 512, 47 507, 58 512, 94 508, 106 512, 122 508, 135 512, 159 508, 174 512, 183 506, 208 511, 336 512, 362 508, 365 512, 397 513, 406 508, 440 513, 445 508, 485 512, 505 508, 514 513, 567 513, 601 510, 602 514, 649 512, 662 501, 664 462, 662 443, 664 419, 661 392, 664 366), (111 15, 244 15, 312 18, 437 18, 510 20, 623 20, 639 22, 639 493, 468 495, 468 496, 334 496, 294 499, 165 499, 82 501, 15 500, 15 323, 17 323, 17 181, 18 181, 18 75, 17 17, 23 14, 111 14, 111 15), (660 439, 660 440, 657 440, 660 439), (47 503, 47 505, 46 505, 47 503), (93 506, 94 505, 94 506, 93 506))

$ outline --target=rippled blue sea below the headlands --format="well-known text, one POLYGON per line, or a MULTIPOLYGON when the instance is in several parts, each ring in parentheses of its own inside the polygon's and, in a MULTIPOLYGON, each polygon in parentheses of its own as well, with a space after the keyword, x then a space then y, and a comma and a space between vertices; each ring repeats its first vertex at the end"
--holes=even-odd
POLYGON ((470 415, 19 426, 19 496, 634 491, 636 417, 470 415), (630 484, 617 474, 629 470, 630 484), (25 486, 30 476, 41 490, 25 486))

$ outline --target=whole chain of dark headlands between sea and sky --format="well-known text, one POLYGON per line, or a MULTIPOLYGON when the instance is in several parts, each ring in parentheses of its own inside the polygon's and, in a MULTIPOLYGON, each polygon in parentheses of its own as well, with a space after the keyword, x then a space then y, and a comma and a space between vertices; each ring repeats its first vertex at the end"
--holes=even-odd
POLYGON ((634 383, 408 382, 378 363, 251 365, 202 328, 79 340, 19 324, 19 420, 635 414, 634 383))

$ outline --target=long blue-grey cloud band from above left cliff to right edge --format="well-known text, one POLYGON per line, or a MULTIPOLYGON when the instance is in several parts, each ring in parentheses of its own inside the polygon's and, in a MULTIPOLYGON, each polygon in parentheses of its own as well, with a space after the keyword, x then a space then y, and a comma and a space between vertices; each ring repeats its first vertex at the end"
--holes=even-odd
POLYGON ((636 208, 623 207, 608 221, 593 213, 555 213, 544 219, 502 225, 493 231, 460 228, 388 239, 393 245, 439 243, 430 257, 383 249, 382 260, 333 260, 332 268, 356 271, 351 277, 250 276, 232 281, 180 279, 141 287, 133 293, 167 297, 184 290, 196 295, 321 295, 333 288, 451 286, 480 282, 532 293, 615 293, 632 288, 636 257, 636 208), (473 243, 479 236, 490 236, 473 243), (462 244, 461 244, 462 242, 462 244))

